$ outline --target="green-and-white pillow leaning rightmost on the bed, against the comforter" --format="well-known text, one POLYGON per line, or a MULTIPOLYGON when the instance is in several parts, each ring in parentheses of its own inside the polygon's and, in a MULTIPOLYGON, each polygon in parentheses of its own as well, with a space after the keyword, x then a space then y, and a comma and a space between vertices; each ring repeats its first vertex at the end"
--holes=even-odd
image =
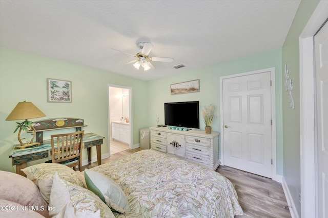
POLYGON ((130 206, 121 187, 104 174, 85 170, 88 189, 94 192, 110 208, 120 213, 130 212, 130 206))

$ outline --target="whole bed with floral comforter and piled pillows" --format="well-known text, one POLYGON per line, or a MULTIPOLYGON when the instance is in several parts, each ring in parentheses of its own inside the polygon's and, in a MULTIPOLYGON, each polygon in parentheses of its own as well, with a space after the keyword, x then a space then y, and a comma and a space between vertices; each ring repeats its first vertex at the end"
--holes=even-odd
POLYGON ((84 172, 57 163, 40 163, 22 171, 27 178, 0 172, 0 177, 6 175, 0 191, 8 193, 0 196, 4 199, 0 202, 6 201, 8 208, 18 203, 36 211, 15 207, 19 211, 7 211, 12 215, 8 217, 17 217, 18 212, 57 218, 227 218, 243 214, 228 179, 212 169, 155 150, 142 150, 84 172), (29 187, 17 188, 18 184, 29 187), (33 190, 28 196, 24 194, 26 188, 33 190))

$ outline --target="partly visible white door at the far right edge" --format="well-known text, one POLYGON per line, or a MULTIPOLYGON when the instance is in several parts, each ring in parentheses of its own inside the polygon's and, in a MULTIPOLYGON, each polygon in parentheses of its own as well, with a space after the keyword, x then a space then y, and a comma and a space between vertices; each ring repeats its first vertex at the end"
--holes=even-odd
POLYGON ((318 217, 328 217, 328 24, 314 37, 318 217))

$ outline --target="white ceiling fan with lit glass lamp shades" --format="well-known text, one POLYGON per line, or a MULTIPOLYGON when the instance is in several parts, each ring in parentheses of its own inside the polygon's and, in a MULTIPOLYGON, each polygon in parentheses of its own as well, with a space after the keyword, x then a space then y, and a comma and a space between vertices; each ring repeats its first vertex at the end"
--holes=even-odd
MULTIPOLYGON (((153 64, 151 64, 151 61, 161 61, 161 62, 172 62, 174 61, 173 58, 163 58, 163 57, 149 57, 149 53, 153 48, 153 45, 150 42, 138 42, 137 46, 139 47, 139 50, 137 51, 136 55, 132 55, 129 53, 125 53, 116 49, 112 49, 115 50, 117 52, 121 52, 121 53, 125 53, 127 55, 131 55, 133 57, 135 57, 136 59, 133 61, 130 61, 128 63, 125 64, 131 64, 139 69, 140 66, 144 67, 144 70, 149 70, 149 69, 154 69, 155 67, 153 66, 153 64)), ((125 65, 124 64, 124 65, 125 65)))

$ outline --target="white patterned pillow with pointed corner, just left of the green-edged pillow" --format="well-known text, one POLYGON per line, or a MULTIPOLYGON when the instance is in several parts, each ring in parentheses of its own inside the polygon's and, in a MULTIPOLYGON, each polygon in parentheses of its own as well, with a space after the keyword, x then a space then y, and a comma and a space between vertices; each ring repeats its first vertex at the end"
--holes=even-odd
POLYGON ((109 207, 92 191, 61 180, 54 175, 50 192, 49 215, 56 218, 115 217, 109 207))

